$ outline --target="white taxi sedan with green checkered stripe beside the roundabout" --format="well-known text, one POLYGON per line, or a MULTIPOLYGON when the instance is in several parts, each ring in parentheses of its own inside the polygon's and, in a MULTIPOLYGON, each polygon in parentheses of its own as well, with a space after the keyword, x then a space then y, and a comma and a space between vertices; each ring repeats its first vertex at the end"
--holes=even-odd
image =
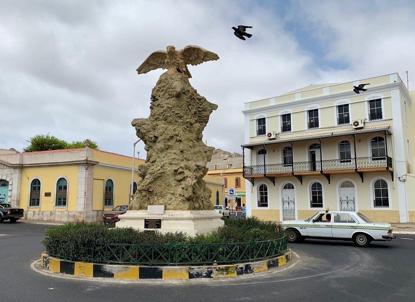
POLYGON ((288 233, 288 242, 305 238, 350 240, 357 246, 371 241, 393 241, 389 223, 373 222, 359 212, 321 211, 306 220, 284 221, 281 227, 288 233))

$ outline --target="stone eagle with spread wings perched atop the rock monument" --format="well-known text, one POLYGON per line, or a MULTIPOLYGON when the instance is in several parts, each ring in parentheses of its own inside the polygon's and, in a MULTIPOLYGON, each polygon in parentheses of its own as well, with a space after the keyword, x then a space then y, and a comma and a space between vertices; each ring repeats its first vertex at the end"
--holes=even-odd
POLYGON ((154 69, 166 69, 167 73, 180 72, 189 78, 192 75, 187 68, 188 64, 198 65, 207 61, 216 61, 219 56, 200 46, 188 45, 179 51, 172 45, 167 47, 167 51, 156 50, 137 68, 138 74, 145 74, 154 69))

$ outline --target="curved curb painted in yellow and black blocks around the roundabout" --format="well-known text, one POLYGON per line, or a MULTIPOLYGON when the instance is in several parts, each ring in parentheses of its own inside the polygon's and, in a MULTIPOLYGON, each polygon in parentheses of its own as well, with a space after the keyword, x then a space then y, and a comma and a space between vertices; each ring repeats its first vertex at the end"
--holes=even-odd
POLYGON ((210 266, 141 266, 112 265, 61 260, 41 254, 41 266, 55 273, 83 277, 104 277, 114 279, 195 279, 236 277, 259 273, 282 266, 291 260, 291 250, 284 255, 250 263, 210 266))

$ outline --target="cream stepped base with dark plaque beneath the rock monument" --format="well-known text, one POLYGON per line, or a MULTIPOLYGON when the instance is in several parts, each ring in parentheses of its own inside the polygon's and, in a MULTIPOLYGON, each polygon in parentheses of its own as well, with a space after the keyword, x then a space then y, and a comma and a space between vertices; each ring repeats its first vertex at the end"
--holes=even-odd
MULTIPOLYGON (((150 207, 149 207, 150 208, 150 207)), ((117 227, 132 227, 140 231, 159 231, 161 233, 183 232, 190 236, 196 233, 216 231, 225 224, 222 214, 215 210, 203 211, 164 211, 164 214, 150 214, 152 211, 127 211, 119 216, 117 227)))

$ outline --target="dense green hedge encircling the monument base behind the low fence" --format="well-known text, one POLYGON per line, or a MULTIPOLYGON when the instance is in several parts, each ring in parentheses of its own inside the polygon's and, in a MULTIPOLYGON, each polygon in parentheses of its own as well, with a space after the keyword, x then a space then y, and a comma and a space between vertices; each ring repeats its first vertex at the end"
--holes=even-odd
POLYGON ((232 263, 278 255, 286 249, 285 239, 270 241, 283 236, 280 226, 256 217, 227 219, 217 231, 196 236, 107 228, 102 223, 66 223, 48 228, 45 234, 46 253, 85 262, 232 263))

